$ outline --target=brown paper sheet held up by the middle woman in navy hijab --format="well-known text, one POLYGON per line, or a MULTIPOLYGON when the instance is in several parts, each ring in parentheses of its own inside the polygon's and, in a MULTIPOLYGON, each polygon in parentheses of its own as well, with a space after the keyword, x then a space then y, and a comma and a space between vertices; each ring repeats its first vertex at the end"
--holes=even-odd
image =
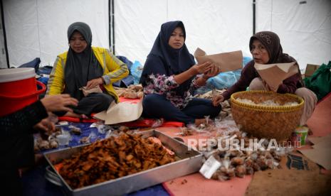
POLYGON ((219 66, 221 72, 240 70, 243 67, 243 53, 241 50, 230 53, 219 53, 215 55, 206 55, 204 50, 196 48, 194 57, 199 64, 204 62, 214 62, 219 66))

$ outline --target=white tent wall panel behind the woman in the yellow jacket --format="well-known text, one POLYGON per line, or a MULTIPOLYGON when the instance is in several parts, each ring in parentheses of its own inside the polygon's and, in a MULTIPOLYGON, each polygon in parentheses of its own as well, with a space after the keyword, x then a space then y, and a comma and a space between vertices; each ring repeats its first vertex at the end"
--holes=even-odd
POLYGON ((4 0, 9 62, 17 67, 34 58, 53 65, 68 50, 67 30, 75 21, 88 23, 93 45, 109 48, 107 0, 4 0))

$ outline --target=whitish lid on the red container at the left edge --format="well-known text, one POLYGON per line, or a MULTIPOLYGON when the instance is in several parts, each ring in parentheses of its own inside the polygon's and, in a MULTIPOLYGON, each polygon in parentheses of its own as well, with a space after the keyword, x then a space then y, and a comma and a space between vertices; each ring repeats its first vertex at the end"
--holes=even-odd
POLYGON ((17 80, 24 80, 35 77, 36 72, 34 68, 10 68, 0 70, 0 82, 13 82, 17 80))

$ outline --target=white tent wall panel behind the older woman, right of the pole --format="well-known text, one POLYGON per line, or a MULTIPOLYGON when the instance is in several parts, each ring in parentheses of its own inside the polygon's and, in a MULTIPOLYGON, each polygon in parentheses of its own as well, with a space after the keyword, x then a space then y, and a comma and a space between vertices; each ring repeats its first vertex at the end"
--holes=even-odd
POLYGON ((256 31, 273 31, 300 68, 331 60, 330 0, 257 0, 256 31), (304 1, 303 1, 304 2, 304 1))

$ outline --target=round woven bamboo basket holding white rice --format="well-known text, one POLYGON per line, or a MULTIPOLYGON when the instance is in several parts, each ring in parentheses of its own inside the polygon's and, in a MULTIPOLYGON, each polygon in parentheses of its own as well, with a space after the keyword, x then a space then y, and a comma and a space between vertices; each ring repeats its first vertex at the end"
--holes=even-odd
POLYGON ((277 141, 287 140, 299 125, 303 114, 303 99, 295 94, 278 94, 268 91, 244 91, 231 95, 233 119, 241 131, 257 138, 275 138, 277 141), (237 98, 250 99, 256 104, 273 100, 280 105, 286 102, 298 102, 295 106, 258 106, 238 102, 237 98))

